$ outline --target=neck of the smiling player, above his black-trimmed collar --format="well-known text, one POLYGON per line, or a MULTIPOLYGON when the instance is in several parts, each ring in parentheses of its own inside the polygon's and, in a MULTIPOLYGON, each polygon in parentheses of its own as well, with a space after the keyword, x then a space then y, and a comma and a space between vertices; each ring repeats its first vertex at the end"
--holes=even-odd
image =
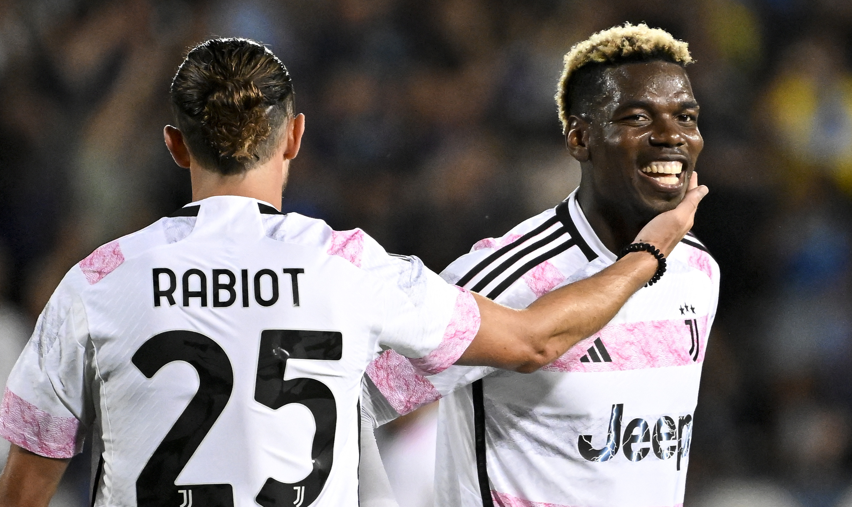
POLYGON ((593 191, 586 190, 581 185, 577 192, 580 209, 601 243, 618 255, 622 248, 636 239, 648 220, 627 212, 621 206, 604 202, 593 191))

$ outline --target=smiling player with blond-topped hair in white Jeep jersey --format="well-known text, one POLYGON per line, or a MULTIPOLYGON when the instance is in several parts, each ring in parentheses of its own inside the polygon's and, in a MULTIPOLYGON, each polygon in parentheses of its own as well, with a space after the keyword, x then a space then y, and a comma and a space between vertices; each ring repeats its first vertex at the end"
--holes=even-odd
MULTIPOLYGON (((690 62, 686 43, 645 25, 575 45, 556 101, 582 168, 579 188, 502 238, 481 240, 444 279, 528 308, 616 262, 687 192, 703 146, 690 62)), ((442 398, 440 507, 681 505, 718 287, 717 263, 690 235, 659 283, 538 372, 452 366, 423 376, 384 352, 367 369, 367 415, 384 423, 442 398)), ((381 488, 368 493, 387 499, 381 488)))

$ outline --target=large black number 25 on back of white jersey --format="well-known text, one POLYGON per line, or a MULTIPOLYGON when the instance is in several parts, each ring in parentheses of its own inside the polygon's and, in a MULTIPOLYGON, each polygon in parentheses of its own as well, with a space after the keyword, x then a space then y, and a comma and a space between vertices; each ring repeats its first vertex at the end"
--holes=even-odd
MULTIPOLYGON (((300 403, 314 415, 313 470, 295 483, 268 477, 255 501, 263 507, 307 506, 320 495, 334 457, 337 403, 331 389, 314 378, 284 380, 287 360, 340 360, 339 331, 271 329, 261 332, 255 400, 272 410, 300 403)), ((199 389, 160 442, 136 480, 139 507, 233 507, 230 484, 184 484, 177 476, 198 449, 233 389, 233 368, 222 347, 195 331, 165 331, 143 343, 133 364, 148 378, 173 361, 186 361, 199 375, 199 389)))

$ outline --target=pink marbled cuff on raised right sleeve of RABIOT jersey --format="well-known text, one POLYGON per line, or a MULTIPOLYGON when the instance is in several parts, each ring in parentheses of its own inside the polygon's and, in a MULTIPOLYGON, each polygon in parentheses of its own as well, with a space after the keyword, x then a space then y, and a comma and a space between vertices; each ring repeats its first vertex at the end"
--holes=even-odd
POLYGON ((444 339, 438 348, 428 355, 409 359, 414 369, 421 375, 435 375, 452 366, 468 349, 479 331, 481 319, 479 305, 473 294, 467 289, 456 287, 456 308, 453 308, 450 323, 446 325, 444 339))

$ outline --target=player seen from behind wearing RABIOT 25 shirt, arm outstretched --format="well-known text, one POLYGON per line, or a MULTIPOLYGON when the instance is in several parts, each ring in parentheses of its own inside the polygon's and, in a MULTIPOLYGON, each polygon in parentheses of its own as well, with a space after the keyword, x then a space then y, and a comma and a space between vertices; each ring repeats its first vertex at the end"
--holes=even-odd
MULTIPOLYGON (((359 229, 281 213, 304 117, 261 44, 192 49, 171 101, 165 141, 195 202, 62 279, 0 405, 4 506, 47 505, 88 429, 95 505, 354 506, 361 377, 382 349, 423 373, 533 371, 662 271, 637 251, 525 311, 500 306, 359 229)), ((670 252, 705 192, 638 239, 670 252)))

